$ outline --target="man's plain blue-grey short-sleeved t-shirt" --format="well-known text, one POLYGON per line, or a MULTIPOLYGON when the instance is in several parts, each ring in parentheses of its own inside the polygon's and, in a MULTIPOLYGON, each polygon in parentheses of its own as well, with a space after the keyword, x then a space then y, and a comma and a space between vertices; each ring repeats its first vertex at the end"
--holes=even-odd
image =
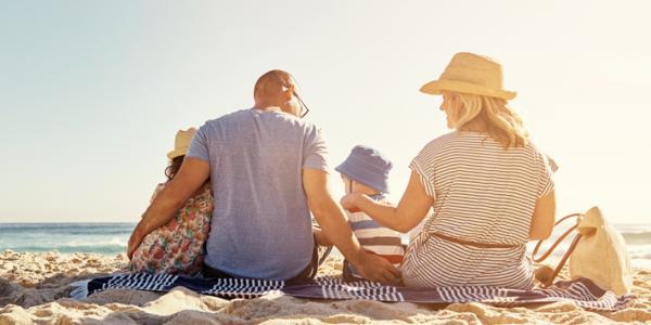
POLYGON ((303 169, 327 170, 326 155, 312 123, 281 112, 244 109, 202 126, 187 156, 210 164, 205 263, 251 278, 301 273, 314 248, 303 169))

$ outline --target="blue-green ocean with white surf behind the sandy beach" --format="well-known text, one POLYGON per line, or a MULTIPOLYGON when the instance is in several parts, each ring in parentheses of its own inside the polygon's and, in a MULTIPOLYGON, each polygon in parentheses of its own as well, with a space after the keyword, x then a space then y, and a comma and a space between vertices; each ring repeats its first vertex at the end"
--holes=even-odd
MULTIPOLYGON (((0 251, 125 252, 135 223, 0 223, 0 251)), ((651 269, 651 224, 615 224, 624 236, 634 266, 651 269)), ((557 230, 545 246, 562 233, 557 230)), ((406 238, 405 238, 406 240, 406 238)), ((572 238, 566 238, 550 258, 563 256, 572 238)), ((535 243, 529 243, 529 250, 535 243)), ((545 246, 541 251, 545 251, 545 246)), ((339 255, 339 252, 335 251, 339 255)))

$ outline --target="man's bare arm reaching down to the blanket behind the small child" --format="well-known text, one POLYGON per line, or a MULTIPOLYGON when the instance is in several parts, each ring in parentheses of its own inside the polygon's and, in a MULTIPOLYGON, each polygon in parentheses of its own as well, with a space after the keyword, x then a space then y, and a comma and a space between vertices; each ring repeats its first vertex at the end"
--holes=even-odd
POLYGON ((346 222, 344 210, 332 198, 328 188, 328 173, 318 169, 303 170, 303 186, 309 208, 323 234, 344 257, 370 281, 391 282, 399 271, 385 259, 365 251, 346 222))

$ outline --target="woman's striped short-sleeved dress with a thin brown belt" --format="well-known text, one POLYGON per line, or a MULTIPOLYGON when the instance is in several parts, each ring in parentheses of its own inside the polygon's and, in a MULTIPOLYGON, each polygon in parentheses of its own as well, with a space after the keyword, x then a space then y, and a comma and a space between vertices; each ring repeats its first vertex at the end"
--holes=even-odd
POLYGON ((405 284, 533 286, 525 244, 537 199, 553 190, 553 160, 531 141, 505 150, 485 133, 451 132, 430 142, 410 168, 434 198, 434 213, 409 245, 405 284), (471 247, 432 233, 513 247, 471 247))

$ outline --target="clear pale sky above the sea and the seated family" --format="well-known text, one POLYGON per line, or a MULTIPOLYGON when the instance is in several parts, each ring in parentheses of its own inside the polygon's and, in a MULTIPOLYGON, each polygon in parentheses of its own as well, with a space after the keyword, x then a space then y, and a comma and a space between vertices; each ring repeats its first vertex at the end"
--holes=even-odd
POLYGON ((331 167, 375 146, 397 200, 411 158, 448 132, 419 88, 460 51, 505 65, 560 165, 559 214, 650 222, 649 3, 3 1, 0 222, 136 222, 175 132, 251 107, 273 68, 295 75, 331 167))

